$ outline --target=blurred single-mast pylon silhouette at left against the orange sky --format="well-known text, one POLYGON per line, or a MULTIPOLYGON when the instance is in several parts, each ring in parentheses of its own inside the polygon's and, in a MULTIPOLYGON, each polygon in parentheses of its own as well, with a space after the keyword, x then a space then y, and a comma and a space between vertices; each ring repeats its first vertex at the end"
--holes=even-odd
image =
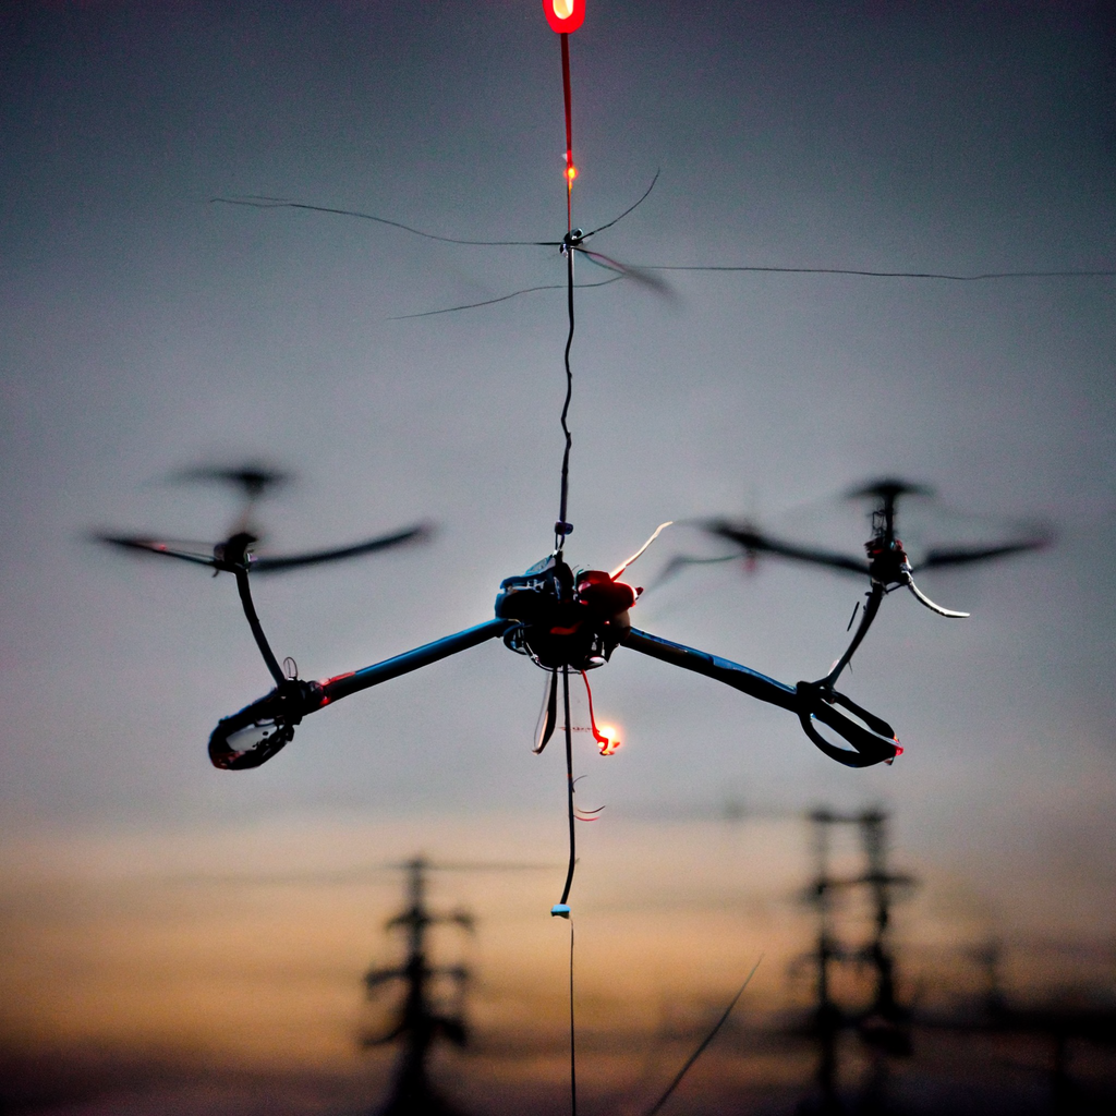
POLYGON ((406 933, 407 952, 403 964, 394 969, 372 969, 364 978, 368 995, 383 984, 402 981, 403 999, 386 1035, 366 1037, 366 1047, 389 1042, 400 1045, 392 1088, 383 1116, 459 1116, 434 1089, 427 1072, 427 1060, 434 1045, 445 1039, 464 1046, 466 1033, 463 998, 469 972, 462 965, 437 966, 427 954, 427 932, 439 923, 451 923, 472 931, 472 916, 464 912, 436 915, 426 906, 426 874, 433 865, 419 856, 403 865, 406 870, 406 907, 387 923, 387 930, 406 933), (446 1012, 439 1008, 435 988, 449 981, 454 988, 455 1007, 446 1012))

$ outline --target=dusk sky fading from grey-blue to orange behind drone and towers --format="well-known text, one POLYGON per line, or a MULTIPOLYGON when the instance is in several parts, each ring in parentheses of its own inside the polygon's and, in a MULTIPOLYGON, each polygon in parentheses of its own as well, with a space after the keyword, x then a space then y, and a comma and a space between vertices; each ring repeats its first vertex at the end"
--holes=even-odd
MULTIPOLYGON (((1116 261, 1110 0, 588 0, 570 52, 575 223, 660 174, 591 242, 626 263, 1116 261)), ((210 731, 271 684, 231 578, 89 538, 223 538, 235 494, 170 480, 212 462, 297 474, 256 509, 276 550, 436 523, 425 546, 254 583, 310 679, 488 619, 500 580, 549 551, 558 253, 212 203, 559 239, 539 4, 16 0, 0 134, 4 1104, 372 1108, 395 1054, 359 1040, 400 989, 366 1001, 360 981, 403 956, 391 866, 423 854, 533 866, 431 873, 431 903, 477 920, 432 932, 471 973, 473 1046, 436 1054, 444 1091, 471 1112, 567 1105, 569 927, 549 916, 566 776, 560 749, 530 752, 541 674, 488 644, 323 711, 258 771, 218 771, 210 731)), ((892 767, 838 767, 786 713, 624 648, 597 672, 624 747, 575 756, 585 805, 606 807, 579 828, 571 897, 584 1109, 646 1110, 761 956, 670 1104, 827 1103, 802 1030, 817 964, 796 961, 818 950, 802 894, 824 806, 885 812, 887 870, 917 879, 887 931, 914 1058, 888 1055, 887 1084, 863 1028, 835 1029, 835 1103, 1090 1110, 1114 1081, 1113 280, 656 275, 666 295, 580 292, 573 348, 568 558, 609 569, 680 521, 631 571, 652 587, 639 627, 824 675, 863 584, 762 557, 660 575, 731 552, 693 526, 711 517, 858 555, 869 509, 843 493, 881 475, 939 493, 910 504, 912 551, 1032 523, 1057 542, 920 578, 966 620, 885 603, 841 686, 895 725, 892 767), (1099 1029, 1057 1022, 1074 1012, 1099 1029)), ((579 281, 607 277, 579 261, 579 281)), ((827 870, 863 875, 858 826, 831 828, 827 870)), ((870 941, 867 892, 833 889, 835 937, 870 941)), ((878 964, 834 970, 849 1012, 870 1003, 878 964)))

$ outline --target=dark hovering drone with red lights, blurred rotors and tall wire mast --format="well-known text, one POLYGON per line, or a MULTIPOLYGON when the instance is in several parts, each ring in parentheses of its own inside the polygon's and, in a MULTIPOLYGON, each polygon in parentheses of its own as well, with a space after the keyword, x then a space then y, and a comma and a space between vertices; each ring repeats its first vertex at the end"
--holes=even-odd
MULTIPOLYGON (((761 536, 759 532, 750 530, 747 527, 740 528, 724 521, 705 525, 706 529, 714 535, 735 542, 742 548, 744 554, 770 551, 783 557, 820 562, 838 569, 868 575, 870 587, 867 603, 852 643, 841 657, 837 660, 829 673, 812 682, 799 681, 793 684, 780 682, 730 660, 683 644, 672 643, 668 639, 634 627, 629 613, 643 590, 633 587, 622 580, 620 577, 631 562, 646 549, 646 546, 652 540, 648 540, 644 548, 637 551, 636 555, 610 573, 595 568, 579 568, 567 562, 565 547, 567 537, 573 530, 567 518, 568 466, 571 445, 567 416, 573 391, 570 347, 574 339, 574 294, 576 289, 574 282, 574 260, 575 257, 581 256, 594 263, 609 268, 615 272, 615 276, 607 281, 615 281, 616 278, 625 277, 637 279, 641 277, 648 278, 646 276, 648 271, 668 270, 824 270, 826 272, 843 275, 904 275, 918 279, 934 280, 999 279, 1017 273, 952 276, 929 272, 864 272, 845 269, 760 268, 751 266, 718 266, 708 268, 656 266, 652 268, 626 268, 607 257, 589 252, 585 247, 586 240, 597 232, 602 232, 616 224, 635 206, 631 206, 615 220, 602 224, 589 232, 574 227, 571 198, 577 169, 573 155, 568 40, 569 33, 580 26, 584 18, 584 0, 561 0, 561 2, 559 0, 543 0, 543 11, 546 12, 547 20, 554 30, 559 33, 561 41, 566 117, 566 166, 564 177, 566 183, 567 231, 560 240, 500 242, 503 244, 521 243, 533 247, 558 247, 566 262, 566 282, 562 286, 567 291, 569 334, 565 349, 567 391, 565 406, 561 412, 561 429, 565 434, 566 448, 561 465, 561 498, 558 519, 555 523, 554 548, 546 558, 537 562, 525 574, 503 579, 497 593, 492 618, 462 632, 444 636, 433 643, 415 647, 392 658, 373 663, 369 666, 347 671, 323 681, 307 681, 298 676, 297 667, 292 660, 286 661, 286 670, 279 666, 279 662, 263 634, 252 603, 249 575, 252 573, 264 573, 267 570, 333 561, 343 557, 372 552, 420 538, 424 533, 423 528, 410 528, 393 536, 372 539, 352 547, 335 550, 288 556, 286 558, 268 559, 263 556, 257 557, 252 549, 257 541, 257 536, 247 526, 247 511, 251 508, 252 501, 261 496, 269 484, 275 483, 277 478, 263 469, 246 468, 241 470, 210 470, 198 474, 202 479, 215 478, 239 484, 248 500, 248 509, 246 509, 246 513, 242 517, 242 522, 238 525, 224 542, 219 543, 213 549, 212 554, 175 548, 147 538, 102 536, 105 541, 118 547, 157 552, 208 566, 214 573, 229 573, 233 575, 244 616, 275 685, 269 693, 246 705, 239 712, 223 718, 218 723, 210 737, 209 753, 214 766, 219 768, 243 770, 259 767, 294 739, 296 728, 309 714, 316 713, 327 705, 358 691, 379 685, 389 679, 420 670, 439 660, 455 655, 459 652, 496 638, 501 639, 510 651, 528 657, 536 666, 549 674, 543 709, 536 734, 536 751, 542 750, 559 724, 558 693, 560 682, 566 708, 568 757, 570 747, 569 675, 573 672, 580 674, 583 679, 587 680, 588 672, 607 663, 617 647, 629 648, 652 658, 682 667, 683 670, 703 674, 714 681, 740 690, 758 701, 767 702, 768 704, 786 710, 798 719, 807 737, 826 756, 847 767, 863 768, 881 762, 889 763, 902 751, 892 727, 882 718, 868 712, 840 693, 836 689, 836 683, 867 634, 883 597, 893 588, 908 588, 922 604, 942 615, 965 615, 935 605, 917 588, 913 580, 915 567, 911 565, 903 543, 895 531, 896 500, 904 493, 912 491, 912 488, 904 482, 884 481, 869 490, 881 501, 881 506, 873 520, 873 538, 866 547, 867 559, 847 558, 843 555, 782 543, 761 536)), ((652 183, 653 185, 654 182, 652 183)), ((648 187, 648 191, 641 198, 639 202, 636 202, 636 205, 650 192, 648 187)), ((230 201, 231 199, 214 200, 230 201)), ((349 210, 288 202, 279 199, 241 199, 238 203, 256 205, 262 209, 292 206, 305 210, 321 210, 327 213, 365 218, 434 240, 459 244, 488 243, 484 241, 464 240, 429 233, 398 221, 349 210)), ((1068 276, 1099 275, 1100 272, 1043 273, 1068 276)), ((451 309, 466 308, 455 307, 451 309)), ((656 531, 655 533, 657 535, 658 532, 656 531)), ((652 539, 654 539, 654 536, 652 536, 652 539)), ((939 556, 936 562, 932 556, 926 565, 977 560, 983 557, 993 557, 997 554, 1026 549, 1030 545, 1028 542, 1021 546, 993 548, 992 550, 985 548, 983 552, 973 551, 968 555, 954 552, 952 556, 939 556)), ((587 681, 586 686, 588 689, 587 681)), ((591 720, 591 694, 589 696, 589 710, 591 720)), ((613 744, 609 738, 599 733, 596 725, 593 725, 593 732, 602 745, 602 751, 610 751, 613 744)), ((570 778, 573 779, 573 776, 570 778)))

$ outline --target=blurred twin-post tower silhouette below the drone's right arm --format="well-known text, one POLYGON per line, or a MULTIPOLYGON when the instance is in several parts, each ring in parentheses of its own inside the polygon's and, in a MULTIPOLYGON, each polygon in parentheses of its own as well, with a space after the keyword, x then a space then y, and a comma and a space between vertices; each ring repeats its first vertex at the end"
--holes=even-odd
POLYGON ((911 1054, 910 1014, 896 997, 895 953, 891 940, 891 908, 895 892, 914 883, 911 876, 887 870, 887 815, 878 809, 860 814, 837 814, 828 809, 809 815, 814 830, 815 877, 807 897, 817 911, 818 935, 811 958, 815 964, 815 1008, 810 1029, 818 1043, 816 1081, 820 1110, 841 1110, 838 1090, 838 1043, 844 1030, 855 1030, 876 1054, 873 1079, 865 1093, 865 1108, 881 1104, 886 1077, 886 1056, 911 1054), (864 870, 852 877, 830 874, 830 833, 834 826, 855 825, 859 829, 864 870), (843 944, 836 934, 835 894, 867 891, 872 904, 872 936, 858 946, 843 944), (867 969, 873 978, 872 998, 858 1010, 844 1008, 833 994, 835 966, 867 969))

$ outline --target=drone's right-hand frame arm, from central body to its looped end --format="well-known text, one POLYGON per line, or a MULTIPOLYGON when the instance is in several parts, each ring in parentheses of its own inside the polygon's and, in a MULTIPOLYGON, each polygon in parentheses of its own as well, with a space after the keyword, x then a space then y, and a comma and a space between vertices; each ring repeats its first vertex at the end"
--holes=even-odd
POLYGON ((895 731, 886 721, 862 709, 831 686, 819 682, 799 682, 796 686, 789 686, 785 682, 768 677, 728 658, 672 643, 670 639, 641 632, 638 628, 632 628, 623 643, 652 658, 672 663, 696 674, 704 674, 751 698, 797 714, 810 741, 830 759, 845 767, 862 768, 882 762, 889 763, 902 751, 895 731), (835 708, 837 705, 848 710, 857 720, 854 721, 839 712, 835 708), (818 732, 816 721, 828 725, 852 748, 839 748, 830 743, 818 732))

